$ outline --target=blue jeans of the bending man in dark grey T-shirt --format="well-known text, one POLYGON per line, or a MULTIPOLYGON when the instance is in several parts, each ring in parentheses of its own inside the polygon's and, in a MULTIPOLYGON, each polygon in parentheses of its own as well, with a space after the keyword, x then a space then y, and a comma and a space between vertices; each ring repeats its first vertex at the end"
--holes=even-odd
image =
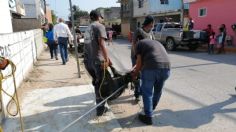
POLYGON ((168 79, 169 75, 169 69, 142 70, 141 92, 146 116, 152 117, 153 110, 156 108, 160 100, 164 83, 168 79))

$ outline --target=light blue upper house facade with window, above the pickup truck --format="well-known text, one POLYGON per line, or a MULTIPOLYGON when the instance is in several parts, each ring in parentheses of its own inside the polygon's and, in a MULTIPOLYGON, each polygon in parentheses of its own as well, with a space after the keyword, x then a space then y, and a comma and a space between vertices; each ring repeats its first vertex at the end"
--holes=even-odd
POLYGON ((136 27, 142 25, 147 15, 152 15, 156 22, 180 22, 182 5, 186 13, 189 7, 188 3, 183 4, 181 0, 133 0, 133 3, 136 27))

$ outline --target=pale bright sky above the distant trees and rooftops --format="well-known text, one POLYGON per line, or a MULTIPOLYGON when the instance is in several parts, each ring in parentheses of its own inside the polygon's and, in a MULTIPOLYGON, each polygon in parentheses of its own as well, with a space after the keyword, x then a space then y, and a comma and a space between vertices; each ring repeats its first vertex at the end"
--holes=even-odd
MULTIPOLYGON (((90 12, 98 7, 118 7, 117 0, 71 0, 72 5, 77 5, 81 10, 90 12)), ((68 20, 69 0, 46 0, 50 9, 54 10, 58 17, 68 20)))

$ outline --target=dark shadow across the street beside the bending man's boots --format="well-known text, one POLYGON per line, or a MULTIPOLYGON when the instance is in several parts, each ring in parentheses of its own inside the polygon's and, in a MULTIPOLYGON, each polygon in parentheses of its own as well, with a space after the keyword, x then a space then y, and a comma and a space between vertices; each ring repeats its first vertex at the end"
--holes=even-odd
MULTIPOLYGON (((170 90, 167 90, 167 92, 170 92, 170 90)), ((236 123, 236 117, 229 115, 229 113, 235 113, 236 108, 224 108, 227 105, 236 103, 236 95, 230 95, 230 97, 225 101, 215 103, 209 106, 203 106, 203 104, 196 100, 175 93, 174 91, 171 92, 172 94, 182 96, 183 99, 186 99, 194 104, 198 104, 202 107, 197 109, 188 109, 180 111, 173 111, 170 109, 156 111, 154 112, 153 126, 172 126, 175 128, 195 129, 202 125, 211 123, 215 118, 215 114, 221 114, 224 118, 227 118, 228 120, 231 120, 232 122, 236 123)), ((138 113, 125 118, 120 118, 118 119, 118 121, 123 128, 138 128, 145 126, 138 120, 137 115, 138 113)))

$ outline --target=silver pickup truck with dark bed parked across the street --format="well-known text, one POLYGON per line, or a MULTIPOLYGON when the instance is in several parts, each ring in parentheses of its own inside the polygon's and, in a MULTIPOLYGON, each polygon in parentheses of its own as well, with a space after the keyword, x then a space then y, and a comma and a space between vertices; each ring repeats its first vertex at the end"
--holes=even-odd
POLYGON ((157 23, 153 33, 155 39, 163 43, 167 50, 175 50, 178 46, 187 46, 196 50, 207 39, 205 31, 183 31, 182 25, 175 22, 157 23))

